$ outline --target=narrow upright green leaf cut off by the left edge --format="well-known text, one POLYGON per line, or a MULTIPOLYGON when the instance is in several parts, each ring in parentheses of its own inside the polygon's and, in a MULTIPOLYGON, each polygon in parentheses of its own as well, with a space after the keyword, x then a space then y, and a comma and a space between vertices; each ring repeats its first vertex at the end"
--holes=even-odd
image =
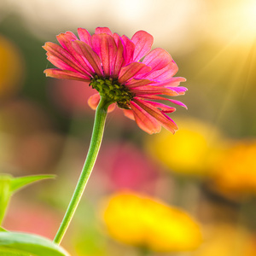
POLYGON ((11 196, 11 179, 12 177, 8 174, 0 174, 0 224, 2 223, 11 196))

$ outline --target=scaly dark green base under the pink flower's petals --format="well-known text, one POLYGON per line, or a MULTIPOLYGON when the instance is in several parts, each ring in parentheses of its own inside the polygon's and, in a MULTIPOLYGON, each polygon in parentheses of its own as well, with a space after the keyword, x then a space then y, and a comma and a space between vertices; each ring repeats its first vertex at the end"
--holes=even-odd
POLYGON ((130 109, 130 101, 135 95, 125 85, 119 84, 117 80, 102 79, 96 76, 90 80, 89 85, 96 89, 100 96, 105 97, 108 102, 117 102, 119 108, 130 109))

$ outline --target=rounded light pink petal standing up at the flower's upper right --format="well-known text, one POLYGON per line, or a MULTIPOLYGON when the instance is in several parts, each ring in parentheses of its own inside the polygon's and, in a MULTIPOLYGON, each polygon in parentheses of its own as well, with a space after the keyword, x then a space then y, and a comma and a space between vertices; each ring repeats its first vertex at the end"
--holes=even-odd
POLYGON ((135 44, 133 61, 139 61, 150 51, 154 38, 148 32, 138 31, 133 35, 131 41, 135 44))

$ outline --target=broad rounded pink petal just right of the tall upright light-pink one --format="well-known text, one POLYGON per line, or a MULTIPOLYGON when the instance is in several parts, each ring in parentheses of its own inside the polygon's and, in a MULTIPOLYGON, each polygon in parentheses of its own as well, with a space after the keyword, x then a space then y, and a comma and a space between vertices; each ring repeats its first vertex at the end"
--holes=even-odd
POLYGON ((152 67, 152 72, 166 67, 172 61, 172 56, 161 48, 153 49, 145 56, 143 63, 152 67))

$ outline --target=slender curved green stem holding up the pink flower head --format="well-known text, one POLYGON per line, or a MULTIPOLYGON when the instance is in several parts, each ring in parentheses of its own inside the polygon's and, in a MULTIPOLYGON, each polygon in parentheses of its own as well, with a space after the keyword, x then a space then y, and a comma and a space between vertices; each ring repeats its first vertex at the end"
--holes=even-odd
POLYGON ((67 231, 67 228, 73 218, 73 214, 76 211, 79 205, 79 201, 84 193, 84 189, 90 177, 90 173, 96 162, 96 157, 102 143, 102 136, 103 136, 105 121, 108 113, 108 105, 109 105, 109 102, 106 102, 105 99, 102 97, 98 107, 96 108, 95 121, 94 121, 92 136, 90 139, 90 148, 88 150, 86 160, 84 161, 84 167, 80 174, 79 181, 73 192, 73 197, 69 202, 65 216, 62 219, 60 228, 56 233, 54 242, 57 244, 61 243, 61 240, 67 231))

